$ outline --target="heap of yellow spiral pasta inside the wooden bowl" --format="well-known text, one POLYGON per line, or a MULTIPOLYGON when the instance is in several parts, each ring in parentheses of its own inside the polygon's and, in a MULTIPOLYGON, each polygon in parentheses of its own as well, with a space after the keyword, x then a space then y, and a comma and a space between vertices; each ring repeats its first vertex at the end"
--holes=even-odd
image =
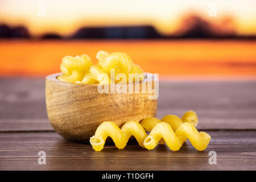
POLYGON ((108 53, 99 51, 96 58, 98 63, 92 65, 88 55, 63 57, 60 70, 63 75, 57 77, 61 81, 76 82, 80 84, 110 84, 112 82, 131 82, 143 80, 144 72, 133 63, 131 57, 123 52, 108 53), (110 76, 111 69, 114 70, 113 78, 110 76), (122 80, 121 73, 126 76, 122 80))

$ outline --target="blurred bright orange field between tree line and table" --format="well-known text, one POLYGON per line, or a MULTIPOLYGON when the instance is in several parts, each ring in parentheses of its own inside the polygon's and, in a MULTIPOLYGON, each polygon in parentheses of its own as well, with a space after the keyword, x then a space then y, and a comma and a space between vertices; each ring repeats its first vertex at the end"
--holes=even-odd
POLYGON ((256 78, 256 41, 235 40, 0 40, 0 76, 46 76, 59 72, 65 55, 99 50, 128 53, 160 78, 256 78))

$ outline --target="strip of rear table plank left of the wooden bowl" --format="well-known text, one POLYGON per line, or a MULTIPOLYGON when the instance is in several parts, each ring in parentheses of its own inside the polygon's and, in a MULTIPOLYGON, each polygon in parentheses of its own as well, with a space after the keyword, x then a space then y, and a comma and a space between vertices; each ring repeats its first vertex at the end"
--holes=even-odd
POLYGON ((0 78, 0 119, 46 119, 44 78, 0 78))

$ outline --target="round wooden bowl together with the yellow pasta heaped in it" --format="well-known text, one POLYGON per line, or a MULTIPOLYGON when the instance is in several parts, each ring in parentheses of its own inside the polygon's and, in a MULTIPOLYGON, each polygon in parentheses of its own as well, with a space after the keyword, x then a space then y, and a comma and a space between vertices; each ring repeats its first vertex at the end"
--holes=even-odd
POLYGON ((102 122, 112 121, 121 127, 128 121, 155 117, 158 77, 143 73, 133 62, 119 63, 125 56, 117 55, 98 53, 102 62, 97 65, 92 65, 87 55, 65 57, 60 65, 62 73, 46 77, 48 118, 62 137, 89 142, 102 122), (110 65, 103 62, 106 60, 110 65), (123 72, 120 65, 130 70, 123 72))

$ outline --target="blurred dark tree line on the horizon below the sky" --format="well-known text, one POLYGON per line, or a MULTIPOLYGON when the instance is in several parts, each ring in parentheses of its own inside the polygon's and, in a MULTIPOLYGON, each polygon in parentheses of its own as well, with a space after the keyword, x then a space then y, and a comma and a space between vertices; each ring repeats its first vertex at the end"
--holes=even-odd
MULTIPOLYGON (((0 38, 33 38, 24 26, 9 27, 0 24, 0 38)), ((75 34, 62 37, 46 33, 39 39, 255 39, 255 35, 237 35, 233 21, 226 18, 222 24, 213 24, 197 15, 185 17, 181 26, 171 35, 162 35, 153 26, 81 27, 75 34)))

